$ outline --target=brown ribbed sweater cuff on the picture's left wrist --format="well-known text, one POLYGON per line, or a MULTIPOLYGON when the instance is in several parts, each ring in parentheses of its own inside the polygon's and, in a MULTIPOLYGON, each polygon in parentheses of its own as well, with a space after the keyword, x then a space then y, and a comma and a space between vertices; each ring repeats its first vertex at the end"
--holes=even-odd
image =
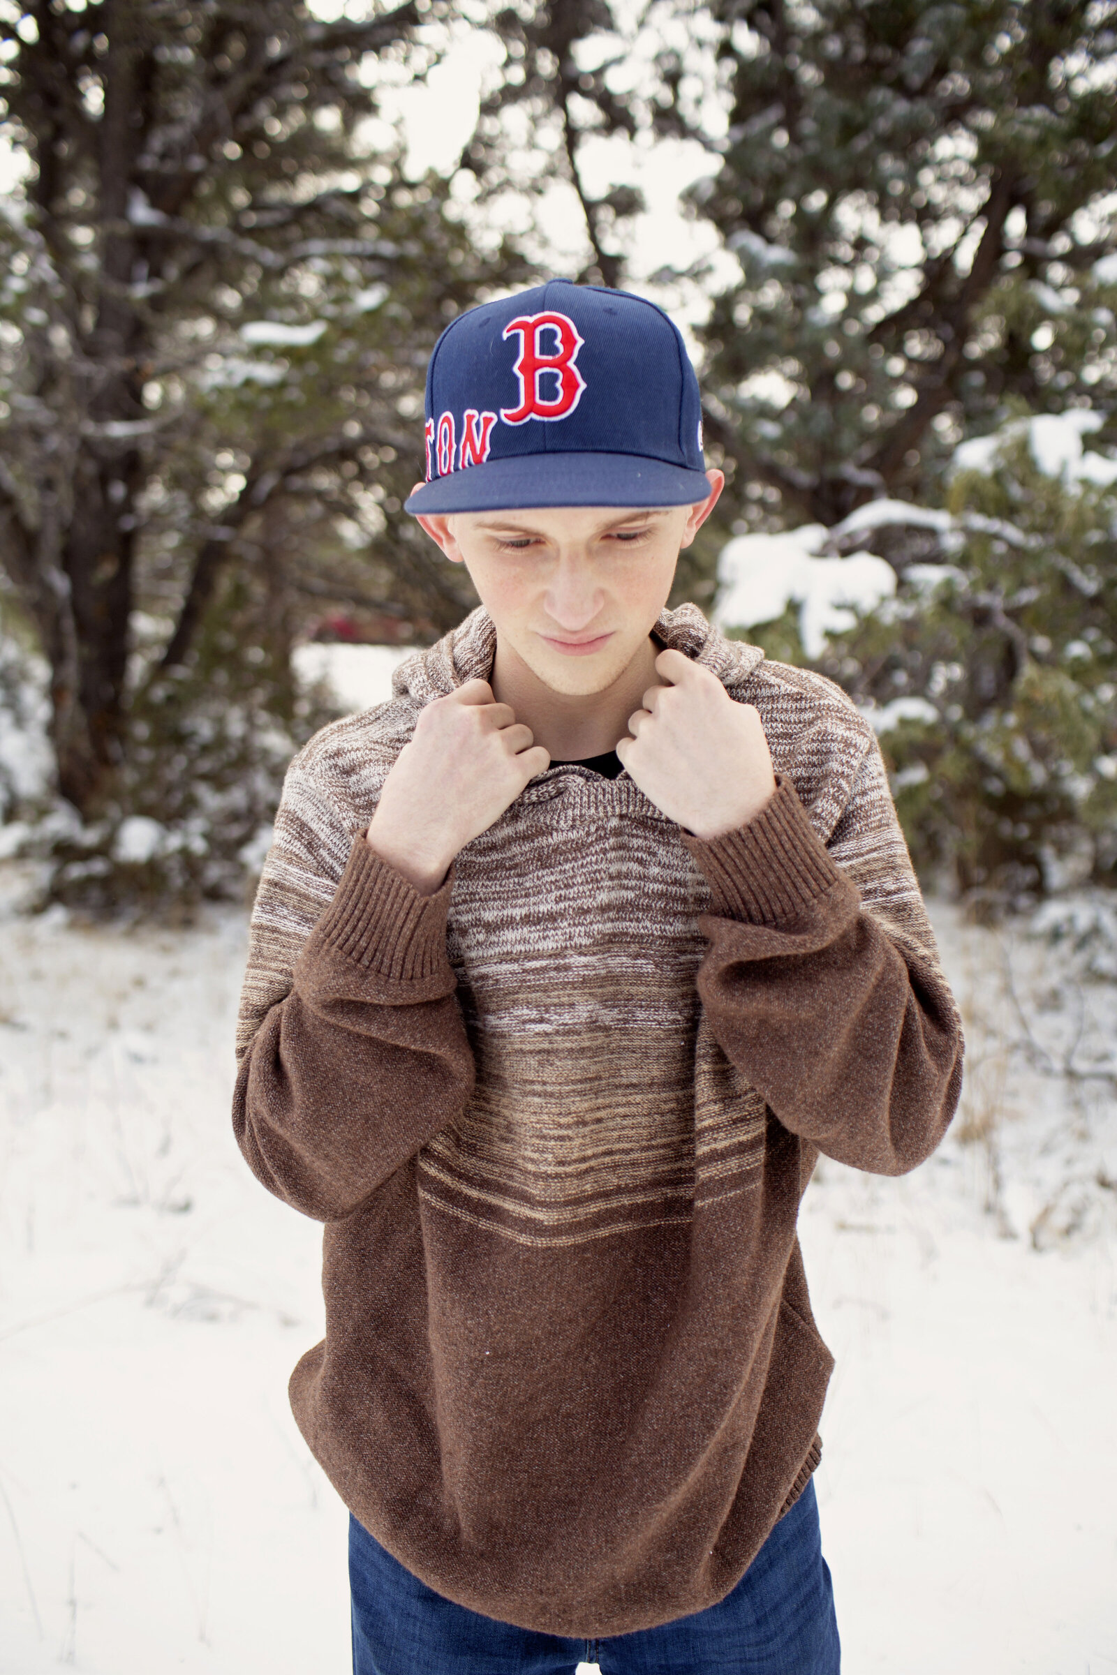
POLYGON ((452 883, 454 868, 434 896, 420 896, 360 832, 333 901, 318 920, 318 936, 367 972, 399 983, 449 973, 445 915, 452 883))

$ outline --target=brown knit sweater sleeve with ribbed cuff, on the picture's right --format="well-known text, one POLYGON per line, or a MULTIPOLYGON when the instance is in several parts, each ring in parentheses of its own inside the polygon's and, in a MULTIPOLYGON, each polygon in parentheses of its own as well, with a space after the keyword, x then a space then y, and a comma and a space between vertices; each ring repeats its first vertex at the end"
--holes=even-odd
POLYGON ((789 777, 747 826, 685 838, 712 910, 698 993, 732 1064, 785 1129, 904 1174, 961 1089, 961 1027, 872 742, 829 843, 789 777))

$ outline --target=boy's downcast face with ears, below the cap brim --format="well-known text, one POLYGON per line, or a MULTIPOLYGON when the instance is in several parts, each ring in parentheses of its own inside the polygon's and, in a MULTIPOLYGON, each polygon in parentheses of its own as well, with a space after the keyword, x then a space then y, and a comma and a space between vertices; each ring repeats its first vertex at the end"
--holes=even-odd
POLYGON ((710 494, 697 506, 548 506, 419 523, 466 564, 501 645, 553 692, 589 695, 613 685, 646 642, 680 548, 722 492, 722 472, 707 476, 710 494))

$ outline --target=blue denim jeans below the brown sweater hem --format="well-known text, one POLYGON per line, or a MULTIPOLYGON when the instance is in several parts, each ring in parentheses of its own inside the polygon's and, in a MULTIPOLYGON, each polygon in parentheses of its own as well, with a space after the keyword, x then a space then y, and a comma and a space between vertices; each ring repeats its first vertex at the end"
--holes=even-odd
POLYGON ((574 1640, 444 1600, 350 1518, 353 1675, 837 1675, 831 1571, 814 1482, 718 1605, 658 1628, 574 1640))

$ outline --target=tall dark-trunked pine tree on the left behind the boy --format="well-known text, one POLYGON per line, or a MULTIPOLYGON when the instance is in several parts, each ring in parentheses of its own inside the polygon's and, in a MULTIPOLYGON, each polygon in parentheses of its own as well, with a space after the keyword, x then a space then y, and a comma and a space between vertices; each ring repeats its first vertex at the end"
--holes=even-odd
POLYGON ((437 330, 524 268, 477 256, 445 186, 362 131, 377 74, 430 57, 420 10, 444 7, 37 0, 0 20, 28 164, 0 223, 0 538, 85 819, 126 807, 131 717, 181 692, 223 590, 243 613, 246 588, 261 608, 348 588, 432 631, 469 603, 400 502, 437 330))

